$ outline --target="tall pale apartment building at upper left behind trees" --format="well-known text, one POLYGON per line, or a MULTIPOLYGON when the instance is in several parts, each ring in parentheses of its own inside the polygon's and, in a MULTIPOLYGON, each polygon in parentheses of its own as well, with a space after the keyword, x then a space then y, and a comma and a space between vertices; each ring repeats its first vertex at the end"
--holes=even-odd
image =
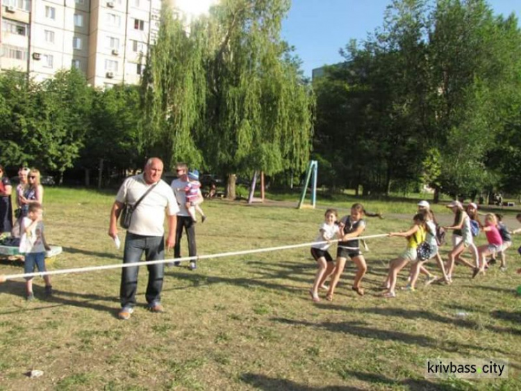
MULTIPOLYGON (((175 7, 175 0, 169 1, 175 7)), ((0 0, 0 70, 76 67, 92 86, 140 81, 161 0, 0 0)), ((179 10, 177 10, 179 12, 179 10)))

